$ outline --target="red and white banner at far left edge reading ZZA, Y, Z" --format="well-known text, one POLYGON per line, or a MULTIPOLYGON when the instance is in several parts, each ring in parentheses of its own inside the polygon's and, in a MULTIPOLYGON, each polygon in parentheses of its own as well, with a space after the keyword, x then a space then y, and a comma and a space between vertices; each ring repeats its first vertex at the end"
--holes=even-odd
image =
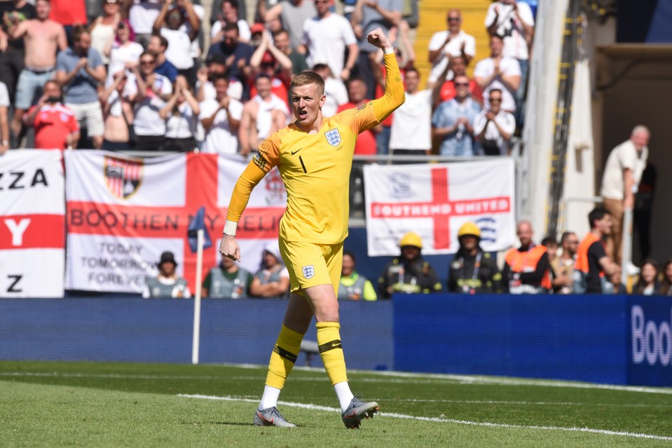
POLYGON ((0 297, 63 297, 61 151, 0 156, 0 297))

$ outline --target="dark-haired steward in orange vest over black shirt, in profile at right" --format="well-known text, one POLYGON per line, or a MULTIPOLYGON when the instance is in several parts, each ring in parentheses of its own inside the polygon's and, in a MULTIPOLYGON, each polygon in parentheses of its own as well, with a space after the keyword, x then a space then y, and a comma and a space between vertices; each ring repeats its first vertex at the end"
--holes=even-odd
POLYGON ((590 232, 577 249, 574 265, 574 292, 610 294, 620 283, 621 270, 605 251, 604 238, 612 231, 612 218, 605 208, 588 214, 590 232))

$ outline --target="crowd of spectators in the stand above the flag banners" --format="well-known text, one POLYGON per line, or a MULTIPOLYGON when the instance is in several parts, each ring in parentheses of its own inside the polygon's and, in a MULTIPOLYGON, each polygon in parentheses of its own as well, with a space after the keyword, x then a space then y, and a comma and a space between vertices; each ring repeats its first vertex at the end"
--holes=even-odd
POLYGON ((461 29, 460 11, 446 11, 422 80, 410 38, 416 0, 336 1, 259 0, 254 18, 244 0, 214 1, 209 18, 200 0, 0 1, 0 152, 32 146, 245 156, 291 121, 294 74, 310 69, 325 80, 325 116, 380 96, 382 53, 366 42, 376 27, 395 43, 407 101, 360 135, 355 154, 509 152, 523 125, 534 34, 528 4, 493 1, 484 17, 491 57, 481 55, 473 79, 466 69, 476 41, 461 29), (60 95, 45 95, 51 80, 60 95))

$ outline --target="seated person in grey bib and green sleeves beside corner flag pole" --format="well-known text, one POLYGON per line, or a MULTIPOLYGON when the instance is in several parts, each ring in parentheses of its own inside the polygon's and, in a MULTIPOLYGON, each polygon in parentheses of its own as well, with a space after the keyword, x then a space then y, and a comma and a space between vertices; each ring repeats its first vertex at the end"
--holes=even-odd
POLYGON ((245 299, 249 297, 252 273, 222 257, 219 266, 210 269, 203 280, 203 297, 210 299, 245 299))

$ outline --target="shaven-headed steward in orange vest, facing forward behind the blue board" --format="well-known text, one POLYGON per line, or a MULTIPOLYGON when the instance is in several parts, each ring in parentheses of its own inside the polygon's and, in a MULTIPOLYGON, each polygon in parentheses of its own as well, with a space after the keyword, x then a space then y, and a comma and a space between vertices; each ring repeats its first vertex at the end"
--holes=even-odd
POLYGON ((518 223, 518 238, 521 246, 509 250, 506 255, 502 278, 507 283, 509 294, 545 294, 551 290, 549 256, 546 247, 532 242, 532 224, 518 223))

